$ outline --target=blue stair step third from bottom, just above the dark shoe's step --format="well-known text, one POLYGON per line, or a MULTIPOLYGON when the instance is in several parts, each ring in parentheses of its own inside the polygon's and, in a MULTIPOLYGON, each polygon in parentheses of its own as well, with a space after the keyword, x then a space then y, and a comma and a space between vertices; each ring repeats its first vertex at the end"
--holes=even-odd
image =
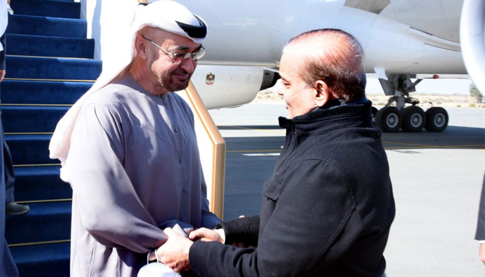
POLYGON ((72 189, 59 177, 60 166, 14 168, 15 201, 72 198, 72 189))

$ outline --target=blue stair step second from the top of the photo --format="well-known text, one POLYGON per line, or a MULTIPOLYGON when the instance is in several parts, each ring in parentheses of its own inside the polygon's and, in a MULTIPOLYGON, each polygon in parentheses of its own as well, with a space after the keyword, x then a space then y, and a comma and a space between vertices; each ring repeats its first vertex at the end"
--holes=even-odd
POLYGON ((37 17, 34 15, 8 15, 6 33, 85 38, 87 35, 87 21, 84 19, 37 17))

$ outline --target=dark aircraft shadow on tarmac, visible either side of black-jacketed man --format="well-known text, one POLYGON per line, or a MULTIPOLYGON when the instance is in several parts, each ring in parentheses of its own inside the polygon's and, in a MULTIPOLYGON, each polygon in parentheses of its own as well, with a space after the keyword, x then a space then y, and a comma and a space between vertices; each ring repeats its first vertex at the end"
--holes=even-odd
MULTIPOLYGON (((234 129, 279 129, 279 126, 226 126, 234 129)), ((222 128, 221 128, 222 129, 222 128)), ((259 213, 264 181, 270 177, 285 143, 284 136, 224 138, 227 144, 224 219, 259 213)), ((443 132, 382 134, 386 150, 485 149, 485 128, 448 126, 443 132)))

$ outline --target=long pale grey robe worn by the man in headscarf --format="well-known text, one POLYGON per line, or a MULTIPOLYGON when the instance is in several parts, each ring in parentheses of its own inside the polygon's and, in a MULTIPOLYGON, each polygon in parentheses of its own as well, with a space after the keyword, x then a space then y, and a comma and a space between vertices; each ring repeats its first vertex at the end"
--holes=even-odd
POLYGON ((71 276, 136 276, 164 222, 213 227, 193 114, 129 73, 82 107, 66 162, 73 188, 71 276))

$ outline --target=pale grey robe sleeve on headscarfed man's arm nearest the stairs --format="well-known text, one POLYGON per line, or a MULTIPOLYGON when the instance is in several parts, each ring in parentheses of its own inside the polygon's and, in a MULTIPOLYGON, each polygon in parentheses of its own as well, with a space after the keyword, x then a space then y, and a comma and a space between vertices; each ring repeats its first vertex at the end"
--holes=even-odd
POLYGON ((106 107, 85 107, 71 139, 70 182, 82 226, 98 242, 146 253, 165 242, 166 235, 123 168, 123 123, 106 107))

